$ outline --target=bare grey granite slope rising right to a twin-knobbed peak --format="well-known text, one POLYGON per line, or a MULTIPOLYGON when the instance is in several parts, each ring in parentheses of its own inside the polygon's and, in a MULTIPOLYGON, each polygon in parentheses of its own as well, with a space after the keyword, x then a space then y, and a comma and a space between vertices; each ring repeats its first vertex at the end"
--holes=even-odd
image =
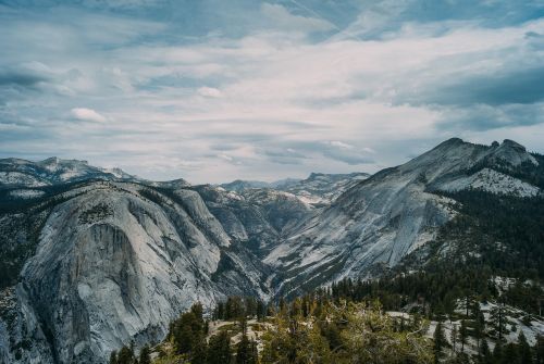
POLYGON ((455 200, 437 193, 450 190, 452 185, 497 193, 540 194, 539 187, 511 176, 506 184, 479 178, 490 166, 514 171, 524 163, 539 165, 523 147, 510 140, 492 147, 447 140, 404 165, 357 184, 279 244, 264 262, 283 267, 280 285, 286 294, 346 276, 370 277, 375 269, 396 265, 434 239, 438 227, 457 214, 455 200), (467 178, 479 183, 459 183, 467 178))

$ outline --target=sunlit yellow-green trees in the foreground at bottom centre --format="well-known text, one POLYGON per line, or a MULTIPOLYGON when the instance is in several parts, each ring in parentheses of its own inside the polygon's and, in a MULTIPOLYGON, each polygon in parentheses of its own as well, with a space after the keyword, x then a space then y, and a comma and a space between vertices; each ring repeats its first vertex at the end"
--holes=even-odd
MULTIPOLYGON (((219 306, 236 312, 234 329, 209 327, 202 306, 194 305, 170 327, 166 340, 153 348, 153 363, 272 364, 272 363, 432 363, 428 323, 386 315, 376 302, 333 302, 323 291, 269 306, 271 316, 249 325, 247 302, 230 298, 219 306), (259 339, 261 350, 258 350, 259 339)), ((249 304, 249 307, 252 305, 249 304)), ((219 310, 215 309, 215 312, 219 310)), ((225 311, 230 312, 230 311, 225 311)), ((226 322, 228 323, 228 322, 226 322)), ((231 324, 232 325, 232 324, 231 324)), ((112 353, 110 363, 143 363, 133 349, 112 353)), ((146 363, 146 362, 144 362, 146 363)))

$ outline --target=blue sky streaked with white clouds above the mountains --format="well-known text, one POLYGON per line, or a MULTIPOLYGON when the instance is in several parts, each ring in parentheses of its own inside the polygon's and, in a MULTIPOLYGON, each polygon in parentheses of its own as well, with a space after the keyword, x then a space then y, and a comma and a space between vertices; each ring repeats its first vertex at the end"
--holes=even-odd
POLYGON ((542 0, 0 0, 0 158, 153 180, 544 153, 542 0))

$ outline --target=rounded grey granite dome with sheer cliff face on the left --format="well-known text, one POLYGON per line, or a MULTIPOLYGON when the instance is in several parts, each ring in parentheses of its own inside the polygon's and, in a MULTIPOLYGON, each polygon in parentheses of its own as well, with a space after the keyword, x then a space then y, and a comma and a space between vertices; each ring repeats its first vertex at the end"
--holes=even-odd
MULTIPOLYGON (((210 306, 225 294, 269 297, 260 286, 265 269, 244 247, 232 246, 200 196, 172 196, 121 183, 63 193, 66 201, 49 214, 21 274, 15 296, 22 309, 12 309, 27 312, 18 322, 46 332, 47 344, 34 356, 102 363, 131 340, 162 339, 196 301, 210 306)), ((10 363, 18 362, 17 346, 27 340, 16 326, 8 335, 14 342, 3 348, 10 363)))

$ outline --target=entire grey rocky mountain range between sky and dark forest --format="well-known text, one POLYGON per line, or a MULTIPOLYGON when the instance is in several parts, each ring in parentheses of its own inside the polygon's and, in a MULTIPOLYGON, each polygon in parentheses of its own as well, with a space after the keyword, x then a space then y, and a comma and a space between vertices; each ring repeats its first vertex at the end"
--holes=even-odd
POLYGON ((0 160, 0 359, 106 363, 131 340, 162 339, 196 301, 269 300, 424 268, 459 253, 444 235, 470 214, 459 193, 529 205, 543 188, 544 158, 511 140, 449 139, 372 176, 221 186, 0 160), (449 250, 425 250, 436 241, 449 250))

